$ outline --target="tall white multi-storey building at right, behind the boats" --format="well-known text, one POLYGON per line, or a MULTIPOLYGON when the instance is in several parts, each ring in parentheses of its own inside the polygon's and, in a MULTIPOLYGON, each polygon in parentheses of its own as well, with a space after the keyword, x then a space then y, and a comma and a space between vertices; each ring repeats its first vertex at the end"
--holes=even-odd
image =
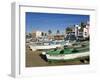
POLYGON ((80 25, 71 27, 72 31, 66 33, 65 40, 84 40, 89 38, 89 27, 89 22, 87 22, 84 27, 80 25))

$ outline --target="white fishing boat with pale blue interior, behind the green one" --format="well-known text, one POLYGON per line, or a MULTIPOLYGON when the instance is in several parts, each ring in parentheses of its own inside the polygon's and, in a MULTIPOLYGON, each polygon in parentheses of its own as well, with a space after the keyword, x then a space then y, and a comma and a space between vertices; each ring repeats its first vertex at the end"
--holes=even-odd
POLYGON ((46 41, 46 42, 37 42, 34 45, 30 44, 29 47, 32 51, 36 50, 44 50, 44 49, 55 49, 56 47, 62 47, 64 45, 72 45, 72 43, 65 42, 65 41, 46 41))

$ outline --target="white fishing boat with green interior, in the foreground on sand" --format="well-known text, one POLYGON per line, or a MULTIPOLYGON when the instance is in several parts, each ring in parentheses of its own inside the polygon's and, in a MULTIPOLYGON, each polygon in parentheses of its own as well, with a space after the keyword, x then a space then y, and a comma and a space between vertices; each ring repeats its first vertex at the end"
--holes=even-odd
POLYGON ((51 60, 70 60, 81 57, 89 56, 89 48, 64 48, 64 49, 53 49, 47 52, 43 52, 48 61, 51 60))

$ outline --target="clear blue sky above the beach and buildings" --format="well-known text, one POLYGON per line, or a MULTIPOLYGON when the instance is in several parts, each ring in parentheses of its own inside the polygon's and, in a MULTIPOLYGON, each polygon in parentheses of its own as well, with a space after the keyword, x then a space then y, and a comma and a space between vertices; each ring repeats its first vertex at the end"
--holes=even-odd
POLYGON ((87 21, 89 15, 26 12, 26 32, 51 30, 55 34, 59 30, 64 33, 70 25, 87 21))

